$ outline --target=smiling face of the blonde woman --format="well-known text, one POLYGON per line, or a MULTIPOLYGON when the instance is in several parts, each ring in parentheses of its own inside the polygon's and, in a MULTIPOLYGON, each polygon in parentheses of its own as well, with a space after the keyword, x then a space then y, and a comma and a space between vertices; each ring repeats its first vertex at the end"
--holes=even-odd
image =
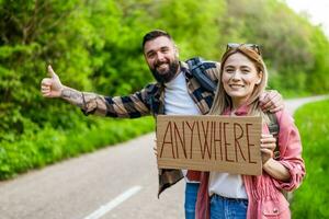
POLYGON ((231 97, 234 106, 246 103, 256 84, 261 82, 262 74, 254 64, 245 55, 236 53, 224 64, 222 82, 224 90, 231 97))

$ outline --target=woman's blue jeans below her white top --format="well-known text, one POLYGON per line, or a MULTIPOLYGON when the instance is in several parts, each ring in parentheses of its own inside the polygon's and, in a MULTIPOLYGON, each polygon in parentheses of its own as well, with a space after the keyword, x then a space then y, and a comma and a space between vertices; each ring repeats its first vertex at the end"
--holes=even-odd
POLYGON ((247 199, 213 195, 211 198, 211 219, 246 219, 247 208, 247 199))

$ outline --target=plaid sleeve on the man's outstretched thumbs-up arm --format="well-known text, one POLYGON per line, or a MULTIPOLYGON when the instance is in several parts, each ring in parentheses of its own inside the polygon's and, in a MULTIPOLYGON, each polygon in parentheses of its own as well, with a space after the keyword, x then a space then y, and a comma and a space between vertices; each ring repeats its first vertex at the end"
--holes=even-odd
POLYGON ((95 114, 121 118, 137 118, 149 115, 147 100, 150 87, 152 84, 148 84, 141 91, 131 95, 114 97, 83 92, 82 112, 84 115, 95 114))

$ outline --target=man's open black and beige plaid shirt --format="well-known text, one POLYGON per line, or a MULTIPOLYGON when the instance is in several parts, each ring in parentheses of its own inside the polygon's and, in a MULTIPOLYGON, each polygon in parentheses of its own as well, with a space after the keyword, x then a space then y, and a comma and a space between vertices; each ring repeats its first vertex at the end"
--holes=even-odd
MULTIPOLYGON (((180 62, 181 71, 185 76, 188 92, 197 105, 200 112, 207 114, 212 107, 214 93, 202 88, 198 81, 192 76, 185 62, 180 62)), ((219 77, 219 64, 204 61, 205 72, 209 79, 217 82, 219 77)), ((120 118, 137 118, 146 115, 164 114, 164 84, 150 83, 141 91, 126 96, 102 96, 91 93, 83 93, 84 106, 82 112, 102 116, 120 118)), ((159 170, 159 193, 175 184, 183 177, 179 170, 159 170)))

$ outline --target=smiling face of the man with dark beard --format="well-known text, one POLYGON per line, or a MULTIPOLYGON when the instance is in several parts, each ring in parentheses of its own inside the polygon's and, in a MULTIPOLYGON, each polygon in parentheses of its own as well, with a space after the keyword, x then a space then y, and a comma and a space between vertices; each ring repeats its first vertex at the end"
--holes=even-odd
POLYGON ((144 56, 158 82, 171 81, 179 70, 178 51, 172 41, 159 36, 146 42, 144 56))

